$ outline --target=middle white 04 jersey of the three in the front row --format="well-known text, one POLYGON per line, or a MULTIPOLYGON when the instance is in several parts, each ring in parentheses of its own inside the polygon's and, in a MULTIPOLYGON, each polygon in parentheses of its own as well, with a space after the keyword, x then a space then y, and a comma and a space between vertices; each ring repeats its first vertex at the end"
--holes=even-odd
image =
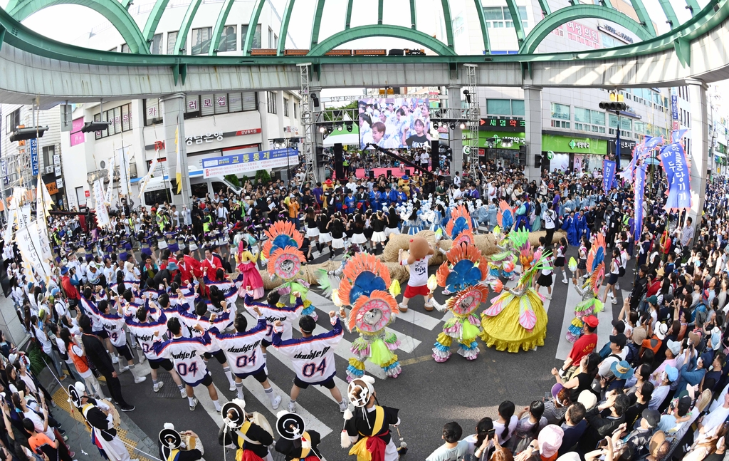
POLYGON ((266 337, 266 319, 259 317, 254 328, 243 333, 224 334, 211 328, 211 338, 217 349, 225 352, 228 365, 235 374, 253 373, 265 365, 261 341, 266 337))

